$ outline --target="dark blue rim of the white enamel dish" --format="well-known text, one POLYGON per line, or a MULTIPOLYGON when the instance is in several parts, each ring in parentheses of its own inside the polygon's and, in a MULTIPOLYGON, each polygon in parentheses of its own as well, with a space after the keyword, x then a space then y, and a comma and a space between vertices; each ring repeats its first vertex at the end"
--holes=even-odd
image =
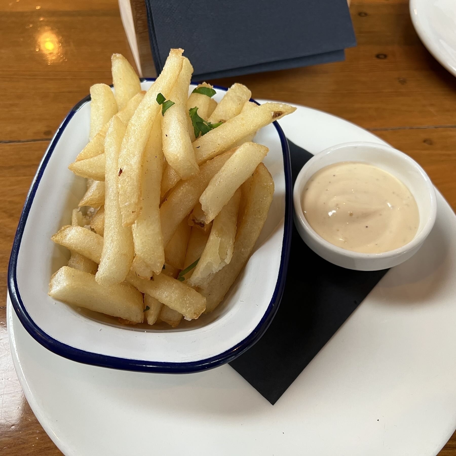
MULTIPOLYGON (((154 78, 141 78, 141 82, 154 81, 154 78)), ((214 86, 221 90, 227 90, 225 87, 214 86)), ((114 368, 120 370, 130 370, 138 372, 156 372, 156 373, 191 373, 199 372, 221 366, 222 364, 229 363, 233 359, 240 356, 256 342, 259 341, 260 337, 268 329, 271 321, 273 320, 277 309, 280 305, 280 300, 283 295, 285 287, 286 272, 288 269, 288 259, 290 256, 290 245, 291 245, 291 228, 292 228, 292 184, 291 184, 291 164, 290 164, 290 151, 288 149, 288 143, 285 138, 283 130, 280 128, 277 122, 273 122, 275 129, 280 137, 280 143, 282 146, 282 153, 284 157, 284 172, 285 172, 285 223, 284 223, 284 238, 282 242, 282 254, 280 257, 280 269, 275 285, 274 293, 272 295, 269 306, 264 312, 261 320, 254 330, 245 337, 241 342, 238 342, 228 350, 219 353, 218 355, 210 358, 205 358, 192 362, 185 363, 166 363, 166 362, 154 362, 140 359, 128 359, 118 358, 115 356, 102 355, 99 353, 87 352, 79 348, 71 347, 63 342, 59 342, 53 337, 49 336, 44 332, 35 321, 31 318, 29 313, 24 306, 24 303, 19 292, 17 284, 17 258, 19 249, 21 247, 22 235, 27 223, 27 218, 33 203, 33 199, 36 194, 36 190, 40 184, 41 177, 43 176, 44 170, 46 169, 47 163, 51 158, 52 152, 60 139, 63 130, 65 130, 67 124, 72 119, 73 115, 88 101, 90 101, 90 95, 83 98, 77 103, 73 109, 67 114, 62 124, 58 127, 55 135, 53 136, 47 150, 41 160, 38 170, 36 171, 35 177, 31 184, 30 190, 26 197, 24 208, 22 209, 21 218, 17 226, 16 235, 14 237, 13 248, 11 250, 10 262, 8 264, 8 291, 10 294, 11 302, 16 311, 16 315, 27 330, 27 332, 43 347, 46 347, 53 353, 62 356, 63 358, 76 361, 78 363, 90 364, 93 366, 100 366, 105 368, 114 368)), ((251 99, 256 104, 254 99, 251 99)))

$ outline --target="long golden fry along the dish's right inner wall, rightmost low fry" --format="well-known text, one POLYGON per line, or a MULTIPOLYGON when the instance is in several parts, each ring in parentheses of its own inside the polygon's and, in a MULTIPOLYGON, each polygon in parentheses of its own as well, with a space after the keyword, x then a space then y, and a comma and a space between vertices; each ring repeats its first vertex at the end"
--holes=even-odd
POLYGON ((206 288, 199 290, 206 297, 206 312, 213 311, 223 300, 249 259, 268 216, 273 194, 274 181, 266 166, 260 163, 251 181, 244 218, 234 242, 233 257, 229 264, 212 277, 206 288))

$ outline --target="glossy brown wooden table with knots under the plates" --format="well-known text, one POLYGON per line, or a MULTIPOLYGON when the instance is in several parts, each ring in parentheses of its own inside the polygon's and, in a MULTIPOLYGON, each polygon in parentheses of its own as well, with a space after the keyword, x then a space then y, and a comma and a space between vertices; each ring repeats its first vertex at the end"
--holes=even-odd
MULTIPOLYGON (((351 11, 358 46, 345 62, 214 82, 241 82, 254 97, 304 104, 373 131, 415 158, 455 209, 456 78, 421 44, 408 0, 354 0, 351 11)), ((116 0, 3 0, 0 40, 0 453, 52 456, 61 453, 26 402, 8 346, 11 244, 57 126, 90 85, 111 83, 113 52, 133 58, 116 0)), ((439 454, 456 455, 456 433, 439 454)))

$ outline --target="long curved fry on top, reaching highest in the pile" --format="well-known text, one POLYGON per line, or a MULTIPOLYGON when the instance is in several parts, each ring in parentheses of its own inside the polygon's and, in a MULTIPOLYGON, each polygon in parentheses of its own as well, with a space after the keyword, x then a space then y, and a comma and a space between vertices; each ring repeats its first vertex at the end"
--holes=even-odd
POLYGON ((119 155, 119 203, 124 226, 132 225, 141 212, 141 166, 150 130, 161 105, 161 93, 169 98, 182 68, 182 49, 171 49, 160 76, 150 86, 130 119, 119 155))

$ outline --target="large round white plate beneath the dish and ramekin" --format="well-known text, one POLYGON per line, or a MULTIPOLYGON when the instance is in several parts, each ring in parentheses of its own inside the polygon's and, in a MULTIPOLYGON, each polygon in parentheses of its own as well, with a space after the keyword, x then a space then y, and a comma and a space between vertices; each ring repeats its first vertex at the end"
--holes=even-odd
MULTIPOLYGON (((280 123, 312 153, 382 143, 303 107, 280 123)), ((385 275, 274 406, 229 365, 168 375, 74 363, 36 343, 9 304, 26 398, 68 456, 435 455, 456 428, 456 217, 437 199, 422 249, 385 275)))

